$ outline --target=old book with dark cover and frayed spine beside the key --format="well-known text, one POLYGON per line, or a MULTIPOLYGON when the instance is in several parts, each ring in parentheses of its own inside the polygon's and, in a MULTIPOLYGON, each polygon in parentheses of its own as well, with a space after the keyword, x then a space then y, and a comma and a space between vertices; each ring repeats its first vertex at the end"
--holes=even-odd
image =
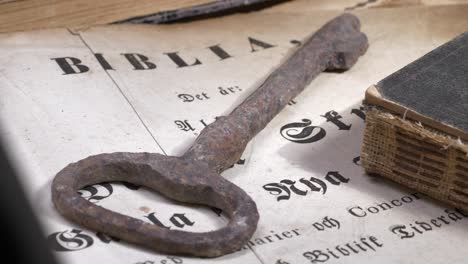
POLYGON ((362 164, 468 210, 468 32, 366 92, 362 164))

